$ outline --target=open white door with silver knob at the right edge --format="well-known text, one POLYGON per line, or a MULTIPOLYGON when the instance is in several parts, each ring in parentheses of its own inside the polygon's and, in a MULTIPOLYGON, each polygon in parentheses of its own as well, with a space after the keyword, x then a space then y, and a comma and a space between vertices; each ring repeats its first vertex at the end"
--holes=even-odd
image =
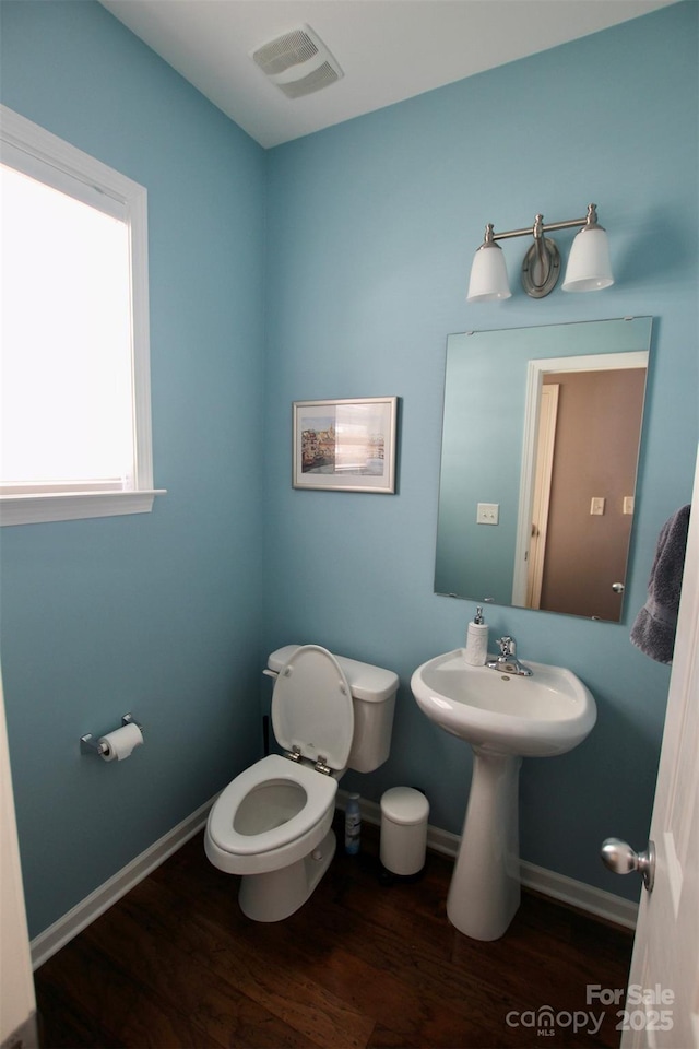
POLYGON ((623 1049, 699 1049, 699 460, 623 1049))

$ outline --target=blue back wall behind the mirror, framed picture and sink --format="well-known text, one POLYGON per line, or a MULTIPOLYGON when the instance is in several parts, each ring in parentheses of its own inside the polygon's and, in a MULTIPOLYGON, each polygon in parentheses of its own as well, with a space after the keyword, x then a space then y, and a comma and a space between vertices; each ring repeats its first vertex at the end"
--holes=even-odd
MULTIPOLYGON (((463 644, 473 613, 433 594, 447 333, 656 318, 626 621, 487 609, 491 636, 569 665, 599 704, 577 751, 524 763, 522 856, 631 895, 638 883, 607 874, 599 846, 648 835, 668 670, 629 629, 657 532, 690 498, 697 450, 697 11, 671 7, 270 156, 265 647, 320 639, 400 674, 390 761, 344 781, 365 797, 423 787, 430 822, 461 830, 467 747, 408 688, 423 660, 463 644), (513 229, 590 201, 609 231, 613 287, 541 302, 513 287, 506 303, 466 304, 486 222, 513 229), (289 401, 375 394, 402 399, 399 494, 293 491, 289 401)), ((565 255, 573 235, 557 235, 565 255)), ((516 279, 524 241, 503 250, 516 279)))

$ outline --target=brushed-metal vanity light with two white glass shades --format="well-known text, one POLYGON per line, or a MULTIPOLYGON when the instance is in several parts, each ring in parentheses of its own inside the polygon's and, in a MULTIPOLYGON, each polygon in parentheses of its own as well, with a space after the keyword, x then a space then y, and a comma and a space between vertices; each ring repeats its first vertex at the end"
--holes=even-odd
POLYGON ((522 287, 532 298, 544 298, 555 288, 560 275, 560 255, 554 240, 545 236, 550 229, 572 229, 582 226, 570 248, 564 292, 596 292, 614 284, 609 266, 609 245, 604 228, 597 224, 597 205, 588 204, 584 219, 569 219, 544 225, 544 216, 536 215, 534 225, 526 229, 496 233, 493 223, 485 227, 485 238, 475 254, 469 282, 470 303, 485 303, 512 295, 507 267, 498 240, 532 236, 533 245, 522 262, 522 287))

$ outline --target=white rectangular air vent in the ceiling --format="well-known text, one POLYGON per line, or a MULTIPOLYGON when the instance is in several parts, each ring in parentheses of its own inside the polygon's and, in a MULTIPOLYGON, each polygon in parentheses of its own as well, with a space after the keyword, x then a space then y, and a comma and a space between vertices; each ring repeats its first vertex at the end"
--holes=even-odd
POLYGON ((263 44, 251 51, 251 58, 287 98, 310 95, 344 75, 309 25, 263 44))

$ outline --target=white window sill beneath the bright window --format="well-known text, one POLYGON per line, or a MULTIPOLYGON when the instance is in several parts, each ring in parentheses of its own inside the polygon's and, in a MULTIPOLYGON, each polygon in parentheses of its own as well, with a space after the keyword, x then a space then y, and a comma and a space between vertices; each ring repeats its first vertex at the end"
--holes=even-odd
POLYGON ((55 495, 7 495, 0 497, 0 524, 42 524, 48 521, 78 521, 91 517, 150 514, 156 495, 165 488, 142 492, 76 492, 55 495))

